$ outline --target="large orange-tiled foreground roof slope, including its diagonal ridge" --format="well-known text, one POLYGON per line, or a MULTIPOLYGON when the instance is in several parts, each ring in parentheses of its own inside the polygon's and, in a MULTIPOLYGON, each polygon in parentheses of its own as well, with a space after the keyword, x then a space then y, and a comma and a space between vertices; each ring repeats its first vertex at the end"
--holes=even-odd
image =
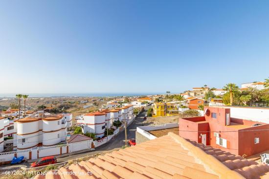
MULTIPOLYGON (((240 163, 241 160, 238 160, 240 163)), ((263 170, 265 171, 264 168, 263 170)), ((243 170, 242 172, 244 173, 243 170)), ((258 172, 255 171, 251 175, 258 172)), ((56 175, 50 173, 46 176, 35 177, 35 179, 84 178, 245 179, 239 173, 226 167, 222 161, 214 158, 211 154, 206 154, 200 146, 196 147, 173 133, 104 156, 98 156, 95 159, 81 161, 79 164, 71 164, 67 168, 62 167, 56 175), (74 175, 67 175, 66 172, 73 172, 74 175), (82 172, 91 172, 92 175, 79 176, 82 172)))

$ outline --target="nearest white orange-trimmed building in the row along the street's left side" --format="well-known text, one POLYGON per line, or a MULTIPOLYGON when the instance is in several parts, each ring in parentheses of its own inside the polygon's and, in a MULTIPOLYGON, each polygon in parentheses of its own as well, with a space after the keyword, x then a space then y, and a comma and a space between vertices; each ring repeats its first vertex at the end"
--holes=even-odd
POLYGON ((102 138, 105 135, 106 113, 104 112, 97 111, 85 114, 78 122, 82 124, 84 134, 87 132, 95 133, 97 138, 102 138))

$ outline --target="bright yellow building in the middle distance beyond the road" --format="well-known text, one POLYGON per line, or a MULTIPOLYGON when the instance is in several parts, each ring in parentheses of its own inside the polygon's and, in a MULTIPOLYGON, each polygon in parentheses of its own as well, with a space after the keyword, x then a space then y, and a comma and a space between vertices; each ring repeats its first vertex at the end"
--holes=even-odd
POLYGON ((178 104, 156 102, 153 104, 153 117, 173 116, 179 114, 178 104))

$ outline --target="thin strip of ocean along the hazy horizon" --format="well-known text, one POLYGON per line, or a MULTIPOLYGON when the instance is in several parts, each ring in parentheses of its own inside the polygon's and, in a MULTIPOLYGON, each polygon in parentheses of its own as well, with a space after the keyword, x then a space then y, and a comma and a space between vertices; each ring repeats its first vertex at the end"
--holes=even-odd
MULTIPOLYGON (((24 94, 24 93, 23 93, 24 94)), ((120 97, 120 96, 147 96, 157 93, 29 93, 28 98, 49 97, 120 97)), ((161 94, 161 93, 159 93, 161 94)), ((15 93, 0 93, 0 98, 15 98, 15 93)))

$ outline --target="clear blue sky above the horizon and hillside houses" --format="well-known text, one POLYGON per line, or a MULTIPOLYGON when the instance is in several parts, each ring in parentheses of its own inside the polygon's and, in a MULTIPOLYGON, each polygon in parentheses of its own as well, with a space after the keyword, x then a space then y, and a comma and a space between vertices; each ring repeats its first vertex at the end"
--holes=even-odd
POLYGON ((268 9, 268 0, 3 0, 0 93, 177 93, 264 80, 268 9))

